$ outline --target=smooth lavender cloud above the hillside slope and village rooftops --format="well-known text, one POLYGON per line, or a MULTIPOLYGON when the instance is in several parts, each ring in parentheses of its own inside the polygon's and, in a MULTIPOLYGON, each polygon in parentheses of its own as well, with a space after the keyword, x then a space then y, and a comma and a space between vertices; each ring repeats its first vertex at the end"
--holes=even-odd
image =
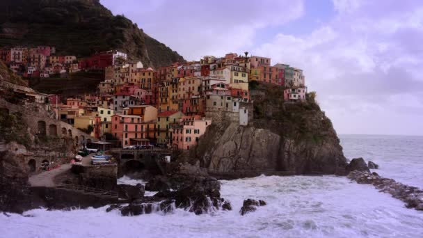
POLYGON ((188 60, 244 52, 254 46, 258 29, 287 24, 304 12, 302 0, 101 2, 188 60))

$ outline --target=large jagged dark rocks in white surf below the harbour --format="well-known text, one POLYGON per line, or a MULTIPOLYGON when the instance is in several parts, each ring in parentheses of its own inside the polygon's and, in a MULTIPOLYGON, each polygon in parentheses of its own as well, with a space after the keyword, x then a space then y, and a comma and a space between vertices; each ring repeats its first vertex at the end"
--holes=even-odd
MULTIPOLYGON (((134 188, 129 190, 132 189, 134 188)), ((122 216, 138 216, 152 212, 166 214, 175 208, 182 208, 195 214, 232 209, 230 202, 221 198, 221 183, 214 177, 157 176, 147 183, 145 189, 159 192, 152 197, 132 200, 129 205, 111 205, 106 210, 110 212, 119 209, 122 216)))

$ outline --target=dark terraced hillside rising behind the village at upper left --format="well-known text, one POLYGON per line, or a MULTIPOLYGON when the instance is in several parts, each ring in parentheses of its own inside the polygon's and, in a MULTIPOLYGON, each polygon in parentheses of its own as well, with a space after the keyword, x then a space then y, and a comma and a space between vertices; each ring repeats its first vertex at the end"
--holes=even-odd
POLYGON ((120 49, 153 67, 184 61, 98 0, 2 0, 0 9, 0 46, 51 45, 78 57, 120 49))

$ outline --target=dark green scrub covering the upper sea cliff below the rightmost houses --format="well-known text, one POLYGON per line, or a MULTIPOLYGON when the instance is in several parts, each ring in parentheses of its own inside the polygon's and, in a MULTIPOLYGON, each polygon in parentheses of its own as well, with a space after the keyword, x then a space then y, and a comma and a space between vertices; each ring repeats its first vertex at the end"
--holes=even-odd
POLYGON ((315 92, 308 93, 305 102, 292 103, 284 102, 281 86, 256 82, 253 87, 254 118, 264 120, 260 126, 271 127, 269 129, 285 138, 317 145, 334 133, 332 122, 315 101, 315 92))

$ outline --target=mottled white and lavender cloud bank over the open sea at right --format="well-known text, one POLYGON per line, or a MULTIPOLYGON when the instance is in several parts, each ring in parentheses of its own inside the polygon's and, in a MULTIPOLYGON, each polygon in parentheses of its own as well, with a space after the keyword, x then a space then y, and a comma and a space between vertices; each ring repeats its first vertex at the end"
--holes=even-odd
POLYGON ((303 68, 341 133, 422 134, 422 3, 333 3, 337 15, 324 26, 279 33, 255 54, 303 68))

